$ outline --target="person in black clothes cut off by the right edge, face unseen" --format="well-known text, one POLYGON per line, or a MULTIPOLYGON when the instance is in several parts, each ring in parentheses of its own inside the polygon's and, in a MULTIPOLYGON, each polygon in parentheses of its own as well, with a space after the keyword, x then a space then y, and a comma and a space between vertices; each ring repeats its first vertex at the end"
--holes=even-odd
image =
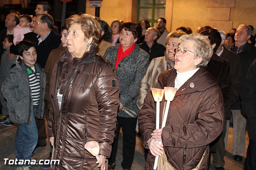
POLYGON ((252 62, 244 80, 241 101, 242 111, 247 117, 246 129, 250 138, 244 162, 245 170, 256 169, 256 60, 252 62))

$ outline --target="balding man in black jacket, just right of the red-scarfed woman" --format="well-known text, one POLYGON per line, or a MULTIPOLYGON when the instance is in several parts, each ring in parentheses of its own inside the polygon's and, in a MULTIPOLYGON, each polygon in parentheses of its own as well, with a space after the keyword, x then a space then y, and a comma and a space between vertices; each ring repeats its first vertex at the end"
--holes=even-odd
POLYGON ((149 53, 151 61, 153 58, 164 56, 165 47, 156 42, 160 33, 156 28, 150 27, 146 30, 145 39, 143 43, 138 44, 141 49, 149 53))

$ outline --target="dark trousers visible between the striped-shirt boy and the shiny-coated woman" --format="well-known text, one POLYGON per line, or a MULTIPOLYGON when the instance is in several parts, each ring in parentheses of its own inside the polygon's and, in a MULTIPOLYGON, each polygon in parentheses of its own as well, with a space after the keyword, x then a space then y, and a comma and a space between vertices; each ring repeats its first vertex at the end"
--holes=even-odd
POLYGON ((43 119, 36 119, 36 127, 38 130, 38 145, 46 145, 46 129, 45 129, 45 119, 48 119, 49 109, 47 107, 47 101, 44 101, 44 117, 43 119))

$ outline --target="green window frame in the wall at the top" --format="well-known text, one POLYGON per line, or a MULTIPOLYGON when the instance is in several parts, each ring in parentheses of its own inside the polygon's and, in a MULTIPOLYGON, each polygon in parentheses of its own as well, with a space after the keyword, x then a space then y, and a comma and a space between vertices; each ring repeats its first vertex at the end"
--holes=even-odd
POLYGON ((140 2, 144 1, 144 2, 149 2, 149 0, 138 0, 138 8, 137 8, 137 22, 140 22, 140 20, 142 19, 147 19, 150 22, 150 25, 152 27, 154 27, 154 24, 157 23, 157 19, 159 17, 163 17, 164 16, 155 16, 156 14, 156 10, 157 9, 164 9, 165 10, 165 6, 166 6, 166 0, 152 0, 152 6, 140 6, 140 2), (161 1, 161 4, 163 4, 163 6, 159 6, 158 4, 156 4, 156 1, 159 2, 161 1), (152 15, 151 15, 151 19, 149 18, 140 18, 140 10, 141 9, 148 9, 148 10, 152 10, 152 15))

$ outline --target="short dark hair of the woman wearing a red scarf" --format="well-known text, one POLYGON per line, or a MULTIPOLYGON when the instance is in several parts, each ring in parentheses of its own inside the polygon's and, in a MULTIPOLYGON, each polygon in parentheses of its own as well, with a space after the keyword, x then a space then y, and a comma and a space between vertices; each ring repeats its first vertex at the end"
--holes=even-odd
POLYGON ((124 22, 124 24, 122 24, 122 26, 119 27, 119 32, 121 32, 123 28, 126 31, 132 32, 132 35, 134 36, 134 38, 140 39, 140 36, 142 34, 142 29, 140 24, 136 24, 133 21, 126 21, 124 22))

